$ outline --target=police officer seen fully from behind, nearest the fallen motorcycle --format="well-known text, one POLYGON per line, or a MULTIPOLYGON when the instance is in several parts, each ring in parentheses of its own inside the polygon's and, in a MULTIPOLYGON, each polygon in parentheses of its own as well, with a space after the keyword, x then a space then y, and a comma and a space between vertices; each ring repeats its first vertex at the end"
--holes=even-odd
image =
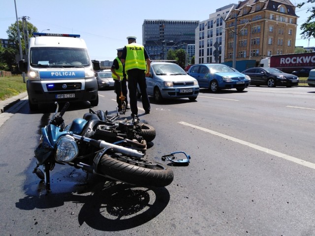
POLYGON ((150 113, 150 100, 147 93, 146 76, 150 76, 150 57, 145 48, 136 43, 135 36, 128 36, 128 45, 123 49, 121 61, 125 64, 128 75, 128 89, 130 98, 131 116, 138 115, 137 84, 142 95, 142 106, 145 114, 150 113))

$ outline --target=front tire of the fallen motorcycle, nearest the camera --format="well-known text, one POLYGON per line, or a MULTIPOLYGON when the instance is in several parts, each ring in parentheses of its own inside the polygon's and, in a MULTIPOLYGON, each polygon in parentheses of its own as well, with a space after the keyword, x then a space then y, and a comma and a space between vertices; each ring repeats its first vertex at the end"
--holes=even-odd
POLYGON ((141 186, 164 187, 174 179, 174 173, 167 166, 146 159, 133 159, 117 153, 105 153, 98 171, 122 182, 141 186))

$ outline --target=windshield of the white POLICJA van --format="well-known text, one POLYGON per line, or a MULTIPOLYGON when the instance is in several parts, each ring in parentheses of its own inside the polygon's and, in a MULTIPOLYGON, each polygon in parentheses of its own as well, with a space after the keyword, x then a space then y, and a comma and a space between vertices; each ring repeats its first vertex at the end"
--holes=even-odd
POLYGON ((30 52, 33 67, 89 66, 88 51, 84 48, 33 47, 30 52))

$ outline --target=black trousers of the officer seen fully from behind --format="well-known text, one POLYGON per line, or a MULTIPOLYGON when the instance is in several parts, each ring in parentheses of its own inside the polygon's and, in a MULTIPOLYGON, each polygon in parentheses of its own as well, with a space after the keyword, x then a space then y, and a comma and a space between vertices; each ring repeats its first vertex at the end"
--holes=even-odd
POLYGON ((142 107, 145 112, 150 112, 150 100, 147 93, 146 75, 144 70, 130 69, 127 71, 128 74, 128 89, 129 89, 129 104, 130 110, 133 115, 138 115, 137 107, 137 84, 139 84, 142 107))

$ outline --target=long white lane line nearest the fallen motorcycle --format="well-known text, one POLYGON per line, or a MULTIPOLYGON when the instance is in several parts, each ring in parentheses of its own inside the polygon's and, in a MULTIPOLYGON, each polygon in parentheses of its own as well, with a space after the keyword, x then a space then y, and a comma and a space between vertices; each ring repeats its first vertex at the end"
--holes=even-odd
POLYGON ((304 161, 304 160, 296 158, 294 156, 289 156, 287 154, 284 154, 284 153, 281 153, 281 152, 278 152, 278 151, 275 151, 275 150, 272 150, 272 149, 269 149, 269 148, 263 148, 261 146, 258 146, 258 145, 255 145, 255 144, 252 144, 252 143, 249 143, 249 142, 246 142, 246 141, 243 141, 243 140, 240 140, 240 139, 237 139, 237 138, 225 135, 225 134, 221 134, 219 132, 216 132, 216 131, 213 131, 213 130, 210 130, 210 129, 206 129, 206 128, 203 128, 203 127, 200 127, 200 126, 189 124, 189 123, 184 122, 184 121, 180 121, 179 123, 183 124, 183 125, 186 125, 186 126, 189 126, 191 128, 199 129, 199 130, 202 130, 204 132, 207 132, 207 133, 219 136, 221 138, 228 139, 228 140, 231 140, 233 142, 236 142, 236 143, 239 143, 239 144, 242 144, 242 145, 254 148, 256 150, 266 152, 268 154, 271 154, 271 155, 283 158, 285 160, 295 162, 295 163, 297 163, 299 165, 306 166, 306 167, 309 167, 309 168, 312 168, 312 169, 315 170, 315 164, 312 163, 312 162, 304 161))

